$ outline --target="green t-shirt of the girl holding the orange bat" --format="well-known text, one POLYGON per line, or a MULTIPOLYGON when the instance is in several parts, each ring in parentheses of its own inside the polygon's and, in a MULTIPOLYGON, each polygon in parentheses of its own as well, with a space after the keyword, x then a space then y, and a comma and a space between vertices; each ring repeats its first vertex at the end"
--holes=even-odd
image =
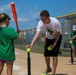
POLYGON ((0 29, 0 60, 15 60, 14 39, 18 36, 13 28, 0 29))

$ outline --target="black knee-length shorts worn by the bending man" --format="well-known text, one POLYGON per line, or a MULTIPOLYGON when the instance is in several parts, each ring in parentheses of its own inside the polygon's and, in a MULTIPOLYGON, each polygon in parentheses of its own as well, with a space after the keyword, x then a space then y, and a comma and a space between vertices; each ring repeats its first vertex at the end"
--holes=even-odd
POLYGON ((44 46, 44 56, 45 57, 48 57, 48 56, 50 56, 50 57, 51 56, 58 56, 61 41, 62 41, 62 35, 60 35, 59 40, 58 40, 55 48, 53 50, 49 51, 47 48, 50 45, 54 44, 55 39, 48 39, 48 38, 46 38, 46 42, 45 42, 45 46, 44 46))

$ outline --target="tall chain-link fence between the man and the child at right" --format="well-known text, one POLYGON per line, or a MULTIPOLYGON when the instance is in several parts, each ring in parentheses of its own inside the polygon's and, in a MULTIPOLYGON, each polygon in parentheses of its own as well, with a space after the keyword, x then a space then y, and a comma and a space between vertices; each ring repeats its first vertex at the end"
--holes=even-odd
POLYGON ((62 48, 69 48, 70 32, 72 31, 72 26, 76 25, 76 17, 72 18, 60 18, 60 23, 62 27, 62 48))

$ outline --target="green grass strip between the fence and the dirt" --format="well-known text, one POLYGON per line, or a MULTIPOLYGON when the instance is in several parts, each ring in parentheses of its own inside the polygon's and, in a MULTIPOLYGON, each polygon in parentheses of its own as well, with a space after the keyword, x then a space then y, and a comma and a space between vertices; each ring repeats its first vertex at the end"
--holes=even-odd
MULTIPOLYGON (((26 45, 25 44, 15 44, 15 48, 19 48, 21 50, 26 50, 26 45)), ((60 51, 62 52, 62 55, 60 55, 60 56, 66 56, 66 57, 70 56, 70 50, 60 49, 60 51)), ((43 54, 44 44, 35 44, 31 50, 31 52, 43 54)))

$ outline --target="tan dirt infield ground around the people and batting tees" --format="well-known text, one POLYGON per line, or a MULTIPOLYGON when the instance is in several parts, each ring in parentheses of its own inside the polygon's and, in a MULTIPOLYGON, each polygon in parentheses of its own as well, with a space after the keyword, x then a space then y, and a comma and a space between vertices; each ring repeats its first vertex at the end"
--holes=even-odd
MULTIPOLYGON (((57 75, 76 75, 76 62, 69 63, 70 57, 59 57, 57 66, 57 75)), ((52 61, 51 61, 52 66, 52 61)), ((31 75, 41 75, 46 69, 46 64, 43 54, 31 52, 31 75)), ((6 74, 6 65, 2 72, 6 74)), ((27 74, 27 53, 20 49, 16 49, 16 60, 14 63, 13 75, 28 75, 27 74)))

